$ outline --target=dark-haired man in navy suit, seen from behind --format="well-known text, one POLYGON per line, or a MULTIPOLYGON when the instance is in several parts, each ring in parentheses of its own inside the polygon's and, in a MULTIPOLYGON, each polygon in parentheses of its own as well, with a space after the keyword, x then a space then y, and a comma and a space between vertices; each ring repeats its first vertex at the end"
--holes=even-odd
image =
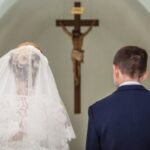
POLYGON ((113 61, 117 90, 89 108, 86 150, 150 150, 150 92, 147 52, 121 48, 113 61))

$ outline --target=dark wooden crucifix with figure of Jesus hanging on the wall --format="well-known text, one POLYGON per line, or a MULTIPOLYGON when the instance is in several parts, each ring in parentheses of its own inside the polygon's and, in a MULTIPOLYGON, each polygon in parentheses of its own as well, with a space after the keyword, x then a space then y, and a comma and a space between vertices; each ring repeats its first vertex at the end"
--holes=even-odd
POLYGON ((74 73, 74 103, 75 113, 81 112, 81 63, 84 60, 84 51, 82 50, 84 37, 92 30, 93 26, 99 26, 99 20, 82 20, 81 14, 84 8, 81 7, 80 2, 74 3, 72 13, 74 14, 74 20, 56 20, 56 26, 62 27, 63 31, 69 35, 73 43, 73 50, 71 54, 74 73), (88 29, 82 33, 81 27, 88 27, 88 29), (72 31, 69 31, 67 27, 74 27, 72 31))

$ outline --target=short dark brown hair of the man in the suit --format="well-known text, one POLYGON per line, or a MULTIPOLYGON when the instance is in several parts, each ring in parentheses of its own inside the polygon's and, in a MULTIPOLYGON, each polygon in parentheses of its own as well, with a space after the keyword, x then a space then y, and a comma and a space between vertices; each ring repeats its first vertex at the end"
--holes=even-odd
POLYGON ((137 46, 125 46, 115 55, 113 64, 118 66, 121 73, 131 78, 140 78, 147 70, 148 54, 137 46))

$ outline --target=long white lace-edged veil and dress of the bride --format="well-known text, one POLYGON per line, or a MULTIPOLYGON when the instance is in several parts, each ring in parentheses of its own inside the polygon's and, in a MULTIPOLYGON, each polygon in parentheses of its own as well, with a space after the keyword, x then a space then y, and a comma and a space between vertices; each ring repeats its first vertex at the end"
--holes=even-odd
POLYGON ((33 46, 0 59, 0 150, 68 150, 75 134, 46 57, 33 46))

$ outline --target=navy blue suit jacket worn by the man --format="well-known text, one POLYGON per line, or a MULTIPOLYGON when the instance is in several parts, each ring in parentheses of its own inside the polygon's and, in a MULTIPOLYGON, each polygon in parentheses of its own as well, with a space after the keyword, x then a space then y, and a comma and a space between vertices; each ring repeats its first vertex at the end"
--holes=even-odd
POLYGON ((150 150, 150 92, 124 85, 92 105, 86 150, 150 150))

